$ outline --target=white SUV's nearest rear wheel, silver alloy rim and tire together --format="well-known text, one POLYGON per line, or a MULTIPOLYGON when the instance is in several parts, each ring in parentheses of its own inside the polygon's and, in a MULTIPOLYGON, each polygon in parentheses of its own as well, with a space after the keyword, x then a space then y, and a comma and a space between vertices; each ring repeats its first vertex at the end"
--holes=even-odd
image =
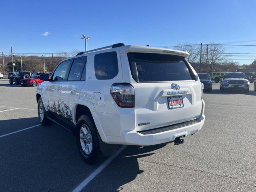
POLYGON ((87 164, 96 164, 104 160, 105 157, 100 151, 96 127, 86 115, 82 115, 78 119, 76 143, 80 155, 87 164))

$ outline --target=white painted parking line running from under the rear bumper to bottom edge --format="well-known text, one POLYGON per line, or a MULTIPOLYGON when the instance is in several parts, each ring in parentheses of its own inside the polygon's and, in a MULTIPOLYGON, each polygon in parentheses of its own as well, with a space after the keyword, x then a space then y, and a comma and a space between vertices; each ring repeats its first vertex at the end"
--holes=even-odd
POLYGON ((102 163, 94 172, 92 172, 82 183, 80 183, 72 192, 80 192, 86 185, 94 179, 122 150, 124 150, 126 146, 120 147, 120 149, 114 154, 110 156, 104 163, 102 163))

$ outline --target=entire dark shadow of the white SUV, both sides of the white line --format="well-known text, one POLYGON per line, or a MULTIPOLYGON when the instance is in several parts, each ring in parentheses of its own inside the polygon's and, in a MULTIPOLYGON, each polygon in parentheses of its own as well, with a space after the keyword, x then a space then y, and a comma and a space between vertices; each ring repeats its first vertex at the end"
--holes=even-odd
MULTIPOLYGON (((37 117, 1 120, 0 136, 36 124, 37 117)), ((122 190, 120 186, 144 172, 138 159, 153 155, 163 146, 127 146, 102 171, 104 174, 92 181, 98 180, 97 189, 92 191, 122 190)), ((70 191, 101 165, 86 164, 78 152, 76 138, 54 123, 1 137, 0 151, 1 192, 70 191)))

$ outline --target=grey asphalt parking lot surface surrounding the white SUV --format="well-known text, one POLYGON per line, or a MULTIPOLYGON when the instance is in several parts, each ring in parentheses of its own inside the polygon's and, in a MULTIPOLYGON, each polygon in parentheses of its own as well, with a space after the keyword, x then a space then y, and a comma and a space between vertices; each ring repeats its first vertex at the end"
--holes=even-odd
MULTIPOLYGON (((87 165, 75 137, 37 118, 36 88, 0 80, 0 191, 73 191, 87 165), (26 130, 23 130, 28 128, 26 130)), ((82 191, 256 191, 256 92, 204 94, 206 121, 184 144, 126 146, 82 191)))

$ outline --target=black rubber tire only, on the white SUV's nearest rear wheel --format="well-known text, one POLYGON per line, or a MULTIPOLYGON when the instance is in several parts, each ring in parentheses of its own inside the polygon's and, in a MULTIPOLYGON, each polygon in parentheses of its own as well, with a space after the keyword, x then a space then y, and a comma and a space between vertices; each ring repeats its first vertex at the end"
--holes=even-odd
MULTIPOLYGON (((87 141, 86 141, 87 143, 87 141)), ((76 128, 76 144, 78 146, 78 150, 80 155, 82 156, 83 160, 87 164, 97 164, 98 162, 101 162, 104 160, 104 156, 102 152, 100 151, 100 144, 98 140, 98 134, 96 130, 96 126, 92 122, 92 120, 87 115, 82 115, 78 119, 77 128, 76 128), (92 150, 90 154, 86 154, 86 152, 82 149, 82 145, 80 142, 80 130, 82 126, 87 126, 90 130, 90 135, 92 138, 92 150)), ((84 141, 85 144, 85 141, 84 141)))

